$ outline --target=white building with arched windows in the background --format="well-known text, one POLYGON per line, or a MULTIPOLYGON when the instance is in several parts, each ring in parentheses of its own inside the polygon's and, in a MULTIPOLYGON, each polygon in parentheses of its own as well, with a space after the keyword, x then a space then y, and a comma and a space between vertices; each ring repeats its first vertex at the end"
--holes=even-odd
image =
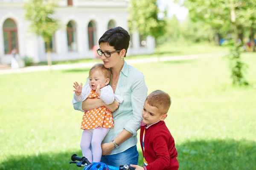
MULTIPOLYGON (((0 0, 0 63, 9 64, 15 48, 21 57, 47 61, 43 39, 29 32, 23 3, 0 0)), ((92 58, 92 47, 105 31, 116 26, 128 30, 126 0, 58 0, 58 4, 56 17, 62 25, 52 36, 53 61, 92 58)), ((141 37, 131 35, 128 55, 154 52, 154 39, 147 37, 145 41, 141 37)))

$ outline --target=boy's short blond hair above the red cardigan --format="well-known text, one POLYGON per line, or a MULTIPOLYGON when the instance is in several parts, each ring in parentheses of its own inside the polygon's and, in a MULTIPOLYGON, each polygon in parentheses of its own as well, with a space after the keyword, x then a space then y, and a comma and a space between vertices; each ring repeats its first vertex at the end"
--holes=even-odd
POLYGON ((161 114, 166 114, 172 103, 169 94, 161 90, 153 91, 145 101, 148 105, 158 108, 161 114))

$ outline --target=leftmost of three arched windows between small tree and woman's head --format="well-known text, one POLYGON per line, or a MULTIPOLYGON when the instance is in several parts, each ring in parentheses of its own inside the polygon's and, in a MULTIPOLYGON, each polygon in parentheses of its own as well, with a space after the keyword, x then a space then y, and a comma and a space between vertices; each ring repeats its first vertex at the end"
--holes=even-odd
POLYGON ((67 47, 68 51, 77 51, 76 24, 73 21, 67 23, 67 47))

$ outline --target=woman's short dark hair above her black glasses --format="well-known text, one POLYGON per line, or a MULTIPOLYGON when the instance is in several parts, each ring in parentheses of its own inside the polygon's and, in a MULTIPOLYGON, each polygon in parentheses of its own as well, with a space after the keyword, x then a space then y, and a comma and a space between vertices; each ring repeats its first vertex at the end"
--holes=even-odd
MULTIPOLYGON (((111 28, 106 31, 99 39, 99 45, 101 42, 108 42, 108 45, 115 48, 115 50, 125 49, 125 56, 130 43, 130 35, 122 27, 111 28)), ((125 57, 124 56, 124 57, 125 57)))

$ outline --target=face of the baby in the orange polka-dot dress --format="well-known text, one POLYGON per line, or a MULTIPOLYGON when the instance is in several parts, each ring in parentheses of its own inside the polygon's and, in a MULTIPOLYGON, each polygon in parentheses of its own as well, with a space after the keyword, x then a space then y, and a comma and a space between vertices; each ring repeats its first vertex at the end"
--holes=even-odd
POLYGON ((104 77, 104 75, 99 72, 98 70, 94 71, 90 76, 89 76, 89 79, 90 79, 90 82, 89 82, 89 85, 90 85, 90 88, 93 89, 93 90, 96 90, 97 89, 97 85, 99 82, 100 84, 100 88, 103 88, 105 87, 106 85, 108 85, 106 83, 106 78, 104 77))

